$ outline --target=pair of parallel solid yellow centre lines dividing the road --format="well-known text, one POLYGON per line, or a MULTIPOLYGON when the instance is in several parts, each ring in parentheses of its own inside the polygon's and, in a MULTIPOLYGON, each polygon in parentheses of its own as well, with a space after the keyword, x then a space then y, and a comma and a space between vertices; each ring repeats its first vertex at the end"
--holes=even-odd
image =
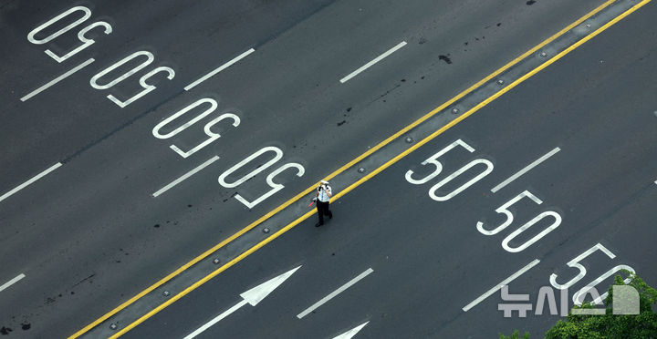
MULTIPOLYGON (((338 200, 340 197, 342 197, 345 194, 349 193, 349 191, 354 190, 355 188, 360 186, 360 184, 362 184, 363 182, 365 182, 367 180, 370 180, 372 177, 374 177, 375 175, 380 173, 382 170, 387 169, 392 164, 394 164, 398 160, 404 158, 405 156, 410 154, 415 149, 419 149, 420 147, 422 147, 422 145, 426 144, 427 142, 431 141, 432 139, 434 139, 438 135, 442 134, 445 130, 447 130, 449 128, 452 128, 454 125, 456 125, 457 123, 462 121, 464 118, 467 118, 467 117, 471 116, 472 114, 474 114, 474 112, 476 112, 480 108, 484 108, 486 105, 488 105, 490 102, 492 102, 496 98, 501 97, 502 95, 504 95, 506 92, 508 92, 512 88, 516 87, 517 85, 519 85, 523 81, 527 80, 527 78, 534 76, 535 74, 537 74, 543 68, 548 67, 549 65, 553 64, 558 59, 560 59, 561 57, 566 56, 568 53, 570 53, 575 48, 577 48, 577 47, 581 46, 582 44, 586 43, 587 41, 589 41, 594 36, 598 36, 602 31, 606 30, 610 26, 613 26, 614 24, 619 22, 622 18, 624 18, 625 16, 630 15, 632 12, 636 11, 637 9, 641 8, 641 6, 646 5, 651 1, 652 0, 643 0, 643 1, 641 1, 637 5, 632 6, 629 10, 622 13, 621 15, 619 15, 619 16, 615 17, 614 19, 612 19, 609 23, 605 24, 604 26, 601 26, 600 28, 598 28, 597 30, 595 30, 594 32, 589 34, 588 36, 585 36, 584 38, 580 39, 574 45, 568 46, 568 48, 566 48, 562 52, 558 53, 557 56, 553 56, 552 58, 548 59, 545 63, 541 64, 540 66, 538 66, 534 69, 532 69, 530 72, 528 72, 523 77, 520 77, 520 78, 516 79, 516 81, 514 81, 511 84, 509 84, 508 86, 504 87, 502 90, 496 92, 493 96, 491 96, 489 98, 486 98, 484 101, 482 101, 481 103, 476 105, 474 108, 469 109, 463 115, 459 116, 458 118, 455 118, 450 123, 445 125, 443 128, 440 128, 440 129, 436 130, 431 135, 429 135, 428 137, 426 137, 426 138, 422 139, 421 141, 417 142, 416 144, 414 144, 409 149, 404 150, 403 152, 401 152, 401 154, 397 155, 393 159, 391 159, 388 162, 386 162, 385 164, 381 165, 381 167, 379 167, 378 169, 372 170, 369 174, 362 177, 360 180, 358 180, 358 181, 354 182, 353 184, 349 185, 349 187, 347 187, 345 190, 341 190, 338 194, 333 196, 333 201, 338 200)), ((325 178, 325 180, 330 180, 330 179, 334 178, 335 176, 339 175, 343 171, 349 169, 354 164, 358 163, 360 160, 369 157, 372 153, 376 152, 377 150, 379 150, 379 149, 383 148, 384 146, 388 145, 389 143, 391 143, 392 140, 401 137, 401 135, 407 133, 412 128, 415 128, 418 125, 422 124, 422 122, 424 122, 425 120, 427 120, 429 118, 432 118, 435 114, 443 111, 444 108, 447 108, 450 105, 454 104, 454 102, 458 101, 459 99, 464 98, 466 95, 470 94, 471 92, 473 92, 478 87, 481 87, 482 85, 484 85, 485 83, 487 83, 488 81, 493 79, 494 77, 497 77, 501 73, 505 72, 508 68, 515 66, 518 62, 525 59, 527 56, 533 55, 534 53, 536 53, 543 46, 546 46, 547 44, 551 43, 552 41, 557 39, 559 36, 563 36, 569 30, 571 30, 572 28, 574 28, 576 26, 579 26, 585 20, 589 19, 593 15, 598 14, 600 11, 607 8, 609 5, 613 4, 614 2, 615 2, 615 0, 609 0, 609 1, 605 2, 604 4, 598 6, 594 10, 590 11, 587 15, 584 15, 584 16, 580 17, 577 21, 575 21, 572 24, 566 26, 565 28, 560 30, 557 34, 555 34, 554 36, 550 36, 549 38, 547 38, 545 41, 541 42, 537 46, 534 46, 533 48, 529 49, 523 55, 516 57, 511 62, 507 63, 505 66, 500 67, 499 69, 495 70, 495 72, 491 73, 488 77, 485 77, 485 78, 481 79, 480 81, 478 81, 477 83, 475 83, 473 86, 468 87, 467 89, 465 89, 463 92, 459 93, 454 98, 451 98, 450 100, 443 103, 443 105, 441 105, 437 108, 434 108, 431 112, 425 114, 422 118, 417 119, 416 121, 414 121, 412 124, 406 126, 405 128, 401 128, 401 130, 399 130, 397 133, 391 135, 391 137, 389 137, 388 139, 385 139, 385 140, 381 141, 378 145, 376 145, 375 147, 369 149, 367 152, 361 154, 358 158, 349 161, 347 164, 345 164, 344 166, 340 167, 338 170, 336 170, 333 173, 331 173, 330 175, 328 175, 328 177, 325 178)), ((292 204, 294 201, 297 201, 297 200, 303 198, 304 196, 307 196, 308 193, 310 193, 311 191, 313 191, 315 189, 315 187, 316 187, 315 185, 310 186, 308 189, 303 190, 302 192, 298 193, 294 198, 292 198, 290 200, 287 200, 285 203, 283 203, 280 206, 276 207, 276 209, 274 209, 273 211, 270 211, 270 212, 266 213, 265 215, 260 217, 258 220, 250 223, 248 226, 246 226, 241 231, 237 231, 235 234, 228 237, 224 241, 221 241, 220 243, 216 244, 213 248, 203 252, 203 254, 197 256, 191 262, 187 262, 186 264, 184 264, 183 266, 181 266, 180 268, 178 268, 174 272, 171 272, 169 275, 162 278, 159 282, 156 282, 156 283, 152 284, 149 288, 147 288, 147 289, 143 290, 141 293, 138 293, 137 295, 133 296, 132 298, 130 298, 130 300, 126 301, 125 303, 121 303, 118 307, 111 310, 109 313, 104 314, 99 319, 97 319, 93 323, 87 325, 86 327, 82 328, 76 334, 73 334, 73 335, 69 336, 68 338, 69 339, 74 339, 74 338, 77 338, 78 336, 80 336, 82 334, 85 334, 85 333, 89 332, 89 330, 91 330, 92 328, 94 328, 98 324, 101 324, 105 320, 109 319, 112 315, 114 315, 116 313, 119 313, 121 310, 128 307, 131 303, 134 303, 137 300, 139 300, 141 297, 143 297, 144 295, 146 295, 148 293, 151 293, 156 288, 162 286, 163 283, 169 282, 176 275, 178 275, 181 272, 187 270, 188 268, 193 266, 195 263, 201 262, 203 259, 205 259, 210 254, 212 254, 212 253, 216 252, 217 250, 219 250, 220 248, 224 247, 227 243, 229 243, 231 241, 234 241, 238 237, 242 236, 243 234, 245 234, 245 232, 252 230, 257 225, 259 225, 261 222, 266 221, 268 218, 275 215, 277 212, 284 210, 285 208, 287 208, 287 206, 292 204)), ((170 304, 175 303, 177 300, 181 299, 187 293, 192 292, 193 290, 195 290, 199 286, 203 285, 203 283, 208 282, 210 279, 214 278, 214 276, 218 275, 221 272, 224 272, 229 267, 235 265, 236 262, 240 262, 245 257, 247 257, 251 253, 257 251, 261 247, 265 246, 270 241, 275 240, 281 234, 285 233, 286 231, 291 230, 293 227, 297 226, 298 223, 300 223, 301 221, 305 221, 306 219, 308 219, 308 217, 310 217, 314 213, 315 213, 315 211, 313 211, 313 210, 308 211, 306 214, 304 214, 301 217, 297 218, 297 220, 287 224, 287 226, 285 226, 280 231, 276 231, 276 233, 274 233, 271 236, 269 236, 268 238, 266 238, 266 240, 255 244, 255 246, 251 247, 246 252, 240 254, 239 256, 237 256, 232 261, 225 263, 223 266, 221 266, 220 268, 218 268, 214 272, 212 272, 212 273, 206 275, 205 277, 203 277, 203 279, 199 280, 198 282, 194 282, 191 286, 184 289, 181 293, 177 293, 176 295, 172 296, 171 299, 168 299, 166 302, 164 302, 161 305, 157 306, 156 308, 152 309, 149 313, 146 313, 146 314, 142 315, 141 318, 137 319, 135 322, 129 324, 126 327, 124 327, 119 332, 117 332, 117 334, 112 335, 110 338, 117 338, 120 335, 127 333, 132 328, 134 328, 135 326, 143 323, 144 321, 149 319, 154 314, 159 313, 160 311, 162 311, 164 308, 166 308, 170 304)))

